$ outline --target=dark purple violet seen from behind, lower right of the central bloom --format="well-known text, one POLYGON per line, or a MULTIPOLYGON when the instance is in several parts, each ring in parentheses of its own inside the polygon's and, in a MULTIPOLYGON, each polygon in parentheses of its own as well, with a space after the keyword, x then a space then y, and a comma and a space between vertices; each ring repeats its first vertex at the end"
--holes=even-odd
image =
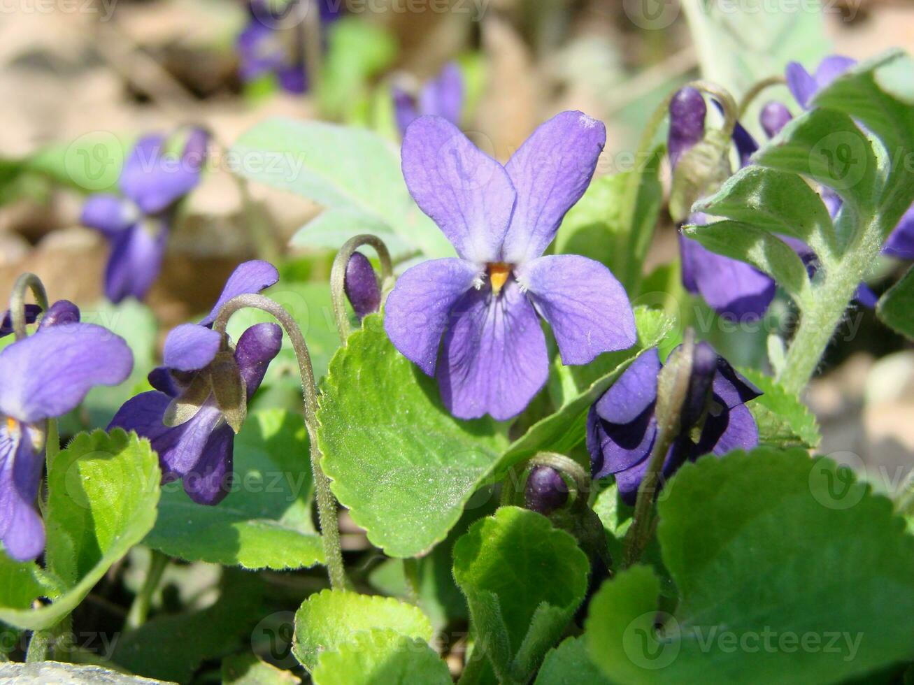
MULTIPOLYGON (((646 350, 590 407, 587 448, 591 474, 595 479, 614 474, 627 504, 634 504, 654 449, 657 375, 662 367, 657 349, 646 350)), ((664 479, 687 460, 758 445, 759 429, 745 404, 759 395, 760 390, 714 348, 698 342, 682 407, 682 428, 664 461, 664 479)))

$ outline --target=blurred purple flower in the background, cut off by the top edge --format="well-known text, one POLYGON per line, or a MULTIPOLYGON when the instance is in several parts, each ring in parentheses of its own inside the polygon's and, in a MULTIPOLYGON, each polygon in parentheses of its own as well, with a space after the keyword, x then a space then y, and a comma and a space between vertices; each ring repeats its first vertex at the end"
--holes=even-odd
MULTIPOLYGON (((324 25, 340 15, 343 0, 318 0, 317 5, 324 25)), ((301 6, 299 0, 290 0, 278 11, 269 0, 250 0, 248 23, 235 44, 241 80, 248 82, 272 74, 288 93, 301 95, 308 90, 299 26, 302 19, 291 14, 301 6)))

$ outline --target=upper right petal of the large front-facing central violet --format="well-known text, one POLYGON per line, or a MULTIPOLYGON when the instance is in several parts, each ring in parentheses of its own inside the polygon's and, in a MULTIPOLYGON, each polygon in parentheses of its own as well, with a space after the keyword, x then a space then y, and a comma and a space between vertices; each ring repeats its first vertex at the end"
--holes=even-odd
POLYGON ((517 194, 502 261, 539 257, 562 218, 584 195, 606 144, 606 127, 580 111, 563 111, 541 124, 505 164, 517 194))

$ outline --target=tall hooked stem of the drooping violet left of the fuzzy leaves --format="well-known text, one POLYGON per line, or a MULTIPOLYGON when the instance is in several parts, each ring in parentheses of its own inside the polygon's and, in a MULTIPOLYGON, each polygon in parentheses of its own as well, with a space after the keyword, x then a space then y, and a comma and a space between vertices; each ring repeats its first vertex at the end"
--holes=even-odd
MULTIPOLYGON (((733 132, 734 126, 736 126, 738 116, 736 100, 733 100, 733 96, 730 95, 729 91, 716 83, 705 80, 690 81, 683 88, 701 90, 720 103, 724 109, 724 122, 718 134, 728 139, 733 132)), ((621 243, 617 245, 618 254, 625 257, 621 262, 616 263, 617 269, 624 269, 624 272, 617 273, 616 276, 622 281, 622 285, 625 286, 630 295, 636 292, 641 284, 644 258, 647 255, 647 249, 651 245, 651 239, 654 237, 653 226, 647 230, 635 232, 634 219, 638 210, 638 186, 641 184, 643 172, 646 171, 646 165, 651 159, 654 138, 669 113, 670 102, 678 91, 679 89, 674 90, 667 95, 657 105, 654 113, 651 114, 651 118, 647 121, 647 126, 644 127, 641 138, 638 141, 638 147, 634 153, 635 168, 626 179, 626 205, 622 208, 622 227, 624 227, 624 230, 619 233, 621 243)))

